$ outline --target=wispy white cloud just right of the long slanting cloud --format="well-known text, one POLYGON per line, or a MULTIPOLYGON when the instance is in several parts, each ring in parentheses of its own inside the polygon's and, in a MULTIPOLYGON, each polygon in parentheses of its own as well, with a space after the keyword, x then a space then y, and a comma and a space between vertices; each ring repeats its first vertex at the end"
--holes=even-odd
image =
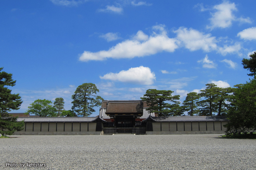
POLYGON ((217 40, 211 34, 203 34, 192 28, 188 30, 184 27, 180 27, 173 32, 177 34, 177 39, 191 51, 202 49, 203 51, 209 52, 217 49, 217 40))

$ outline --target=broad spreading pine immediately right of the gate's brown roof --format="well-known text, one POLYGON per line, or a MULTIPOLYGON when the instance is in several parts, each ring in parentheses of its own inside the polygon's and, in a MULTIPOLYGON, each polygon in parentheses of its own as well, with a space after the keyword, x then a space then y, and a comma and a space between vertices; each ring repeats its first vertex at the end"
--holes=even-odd
POLYGON ((158 113, 158 116, 178 116, 181 115, 180 95, 172 96, 171 90, 148 89, 141 99, 150 106, 147 110, 151 113, 158 113), (165 103, 166 101, 172 102, 165 103))

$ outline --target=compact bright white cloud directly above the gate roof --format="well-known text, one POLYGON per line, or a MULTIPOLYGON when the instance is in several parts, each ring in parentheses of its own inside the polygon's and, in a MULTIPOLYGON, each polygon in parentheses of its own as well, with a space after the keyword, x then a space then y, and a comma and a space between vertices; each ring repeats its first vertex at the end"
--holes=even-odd
POLYGON ((151 85, 154 83, 155 74, 148 67, 134 67, 129 70, 122 70, 119 73, 108 73, 101 79, 129 82, 135 84, 151 85))

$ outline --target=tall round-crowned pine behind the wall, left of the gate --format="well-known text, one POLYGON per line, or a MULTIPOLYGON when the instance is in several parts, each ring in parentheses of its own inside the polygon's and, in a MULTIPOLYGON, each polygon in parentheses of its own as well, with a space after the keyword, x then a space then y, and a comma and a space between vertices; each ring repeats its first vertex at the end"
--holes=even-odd
POLYGON ((75 94, 72 95, 72 110, 77 115, 90 116, 95 110, 93 107, 101 105, 104 100, 101 96, 96 96, 99 90, 93 83, 84 83, 76 88, 75 94))

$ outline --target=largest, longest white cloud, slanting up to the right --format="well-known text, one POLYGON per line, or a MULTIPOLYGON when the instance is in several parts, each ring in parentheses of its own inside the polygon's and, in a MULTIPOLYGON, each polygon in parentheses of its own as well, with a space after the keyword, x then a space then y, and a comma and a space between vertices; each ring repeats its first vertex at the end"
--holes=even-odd
POLYGON ((178 48, 176 40, 169 38, 163 25, 154 26, 153 29, 158 29, 159 34, 155 33, 147 38, 147 35, 142 31, 138 31, 132 38, 118 43, 108 51, 102 50, 98 52, 84 51, 80 55, 80 61, 97 60, 101 61, 107 58, 134 58, 153 55, 161 51, 173 52, 178 48))

